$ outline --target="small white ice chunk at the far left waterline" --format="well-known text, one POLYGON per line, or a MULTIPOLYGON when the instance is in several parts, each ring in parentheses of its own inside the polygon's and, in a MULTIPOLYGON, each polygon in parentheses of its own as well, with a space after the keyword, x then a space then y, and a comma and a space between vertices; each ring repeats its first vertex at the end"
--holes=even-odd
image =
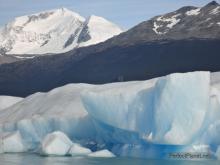
POLYGON ((0 142, 0 151, 2 153, 26 151, 26 147, 18 131, 0 134, 0 142))

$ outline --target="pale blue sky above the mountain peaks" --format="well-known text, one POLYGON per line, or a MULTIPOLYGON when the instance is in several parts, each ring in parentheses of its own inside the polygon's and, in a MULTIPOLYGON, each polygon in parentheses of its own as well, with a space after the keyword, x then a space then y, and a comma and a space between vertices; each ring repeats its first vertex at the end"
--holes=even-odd
MULTIPOLYGON (((0 0, 0 25, 22 15, 66 7, 84 17, 102 16, 123 29, 182 6, 204 6, 211 0, 0 0)), ((220 3, 220 0, 217 0, 220 3)))

